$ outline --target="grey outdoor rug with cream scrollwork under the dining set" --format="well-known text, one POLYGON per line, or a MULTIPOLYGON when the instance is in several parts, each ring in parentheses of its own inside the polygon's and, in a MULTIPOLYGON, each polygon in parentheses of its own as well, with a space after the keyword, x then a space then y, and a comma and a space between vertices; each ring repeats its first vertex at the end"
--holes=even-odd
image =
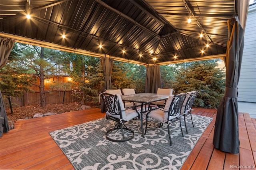
POLYGON ((212 121, 210 117, 192 117, 194 128, 190 117, 186 118, 188 134, 182 117, 184 137, 178 121, 171 125, 172 146, 167 125, 159 128, 159 122, 153 120, 149 121, 144 138, 139 119, 127 122, 135 136, 120 143, 106 140, 105 133, 115 122, 105 118, 56 130, 50 135, 77 170, 178 170, 212 121))

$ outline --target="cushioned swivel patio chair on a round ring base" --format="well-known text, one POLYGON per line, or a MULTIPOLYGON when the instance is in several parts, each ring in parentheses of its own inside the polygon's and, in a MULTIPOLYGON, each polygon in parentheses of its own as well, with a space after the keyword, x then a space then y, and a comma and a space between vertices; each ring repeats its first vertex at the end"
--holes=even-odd
POLYGON ((134 137, 134 131, 127 128, 124 123, 140 117, 138 111, 130 108, 125 109, 121 96, 119 94, 101 93, 100 95, 106 106, 106 119, 110 119, 116 122, 114 128, 110 128, 106 132, 106 139, 112 142, 125 142, 134 137), (120 137, 119 134, 122 134, 120 137))

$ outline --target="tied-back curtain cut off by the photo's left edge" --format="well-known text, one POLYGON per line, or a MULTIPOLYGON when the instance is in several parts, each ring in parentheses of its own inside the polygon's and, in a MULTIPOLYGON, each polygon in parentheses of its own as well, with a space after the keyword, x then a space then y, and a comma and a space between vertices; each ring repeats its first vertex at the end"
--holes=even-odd
MULTIPOLYGON (((0 68, 4 66, 6 63, 11 51, 14 46, 15 41, 9 40, 7 38, 0 38, 0 68)), ((3 136, 3 132, 8 132, 10 127, 8 125, 8 119, 6 115, 6 110, 4 107, 4 100, 2 97, 2 93, 0 90, 0 137, 3 136)))

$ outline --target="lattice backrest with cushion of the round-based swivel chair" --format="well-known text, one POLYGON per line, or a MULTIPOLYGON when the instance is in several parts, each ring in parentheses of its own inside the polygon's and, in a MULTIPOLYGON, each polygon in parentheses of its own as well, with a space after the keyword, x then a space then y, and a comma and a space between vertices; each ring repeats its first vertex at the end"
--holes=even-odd
POLYGON ((106 113, 119 119, 126 119, 124 104, 120 94, 101 93, 100 96, 106 106, 106 113))

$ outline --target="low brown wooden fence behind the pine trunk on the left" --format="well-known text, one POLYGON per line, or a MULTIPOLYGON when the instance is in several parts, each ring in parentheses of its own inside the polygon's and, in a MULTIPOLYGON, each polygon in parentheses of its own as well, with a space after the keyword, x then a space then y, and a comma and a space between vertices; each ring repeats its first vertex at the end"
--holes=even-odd
MULTIPOLYGON (((45 93, 46 96, 46 103, 47 104, 62 104, 63 97, 64 103, 73 103, 77 102, 78 100, 74 97, 73 92, 71 90, 64 91, 54 91, 51 93, 45 93)), ((38 105, 40 104, 40 95, 39 91, 35 91, 34 93, 24 93, 23 97, 11 97, 12 107, 17 106, 28 106, 28 105, 38 105)), ((10 108, 8 100, 5 99, 5 107, 10 108)))

